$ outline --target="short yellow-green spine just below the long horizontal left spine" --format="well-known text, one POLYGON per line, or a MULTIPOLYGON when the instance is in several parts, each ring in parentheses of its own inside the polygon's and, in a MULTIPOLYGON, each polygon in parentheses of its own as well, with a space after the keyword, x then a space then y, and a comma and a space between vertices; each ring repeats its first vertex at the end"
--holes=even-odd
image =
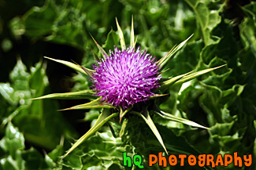
POLYGON ((109 105, 108 103, 102 103, 102 101, 99 101, 101 97, 98 99, 95 99, 89 103, 84 103, 80 105, 76 105, 74 107, 69 107, 62 110, 81 110, 81 109, 93 109, 93 108, 114 108, 113 106, 109 105))

